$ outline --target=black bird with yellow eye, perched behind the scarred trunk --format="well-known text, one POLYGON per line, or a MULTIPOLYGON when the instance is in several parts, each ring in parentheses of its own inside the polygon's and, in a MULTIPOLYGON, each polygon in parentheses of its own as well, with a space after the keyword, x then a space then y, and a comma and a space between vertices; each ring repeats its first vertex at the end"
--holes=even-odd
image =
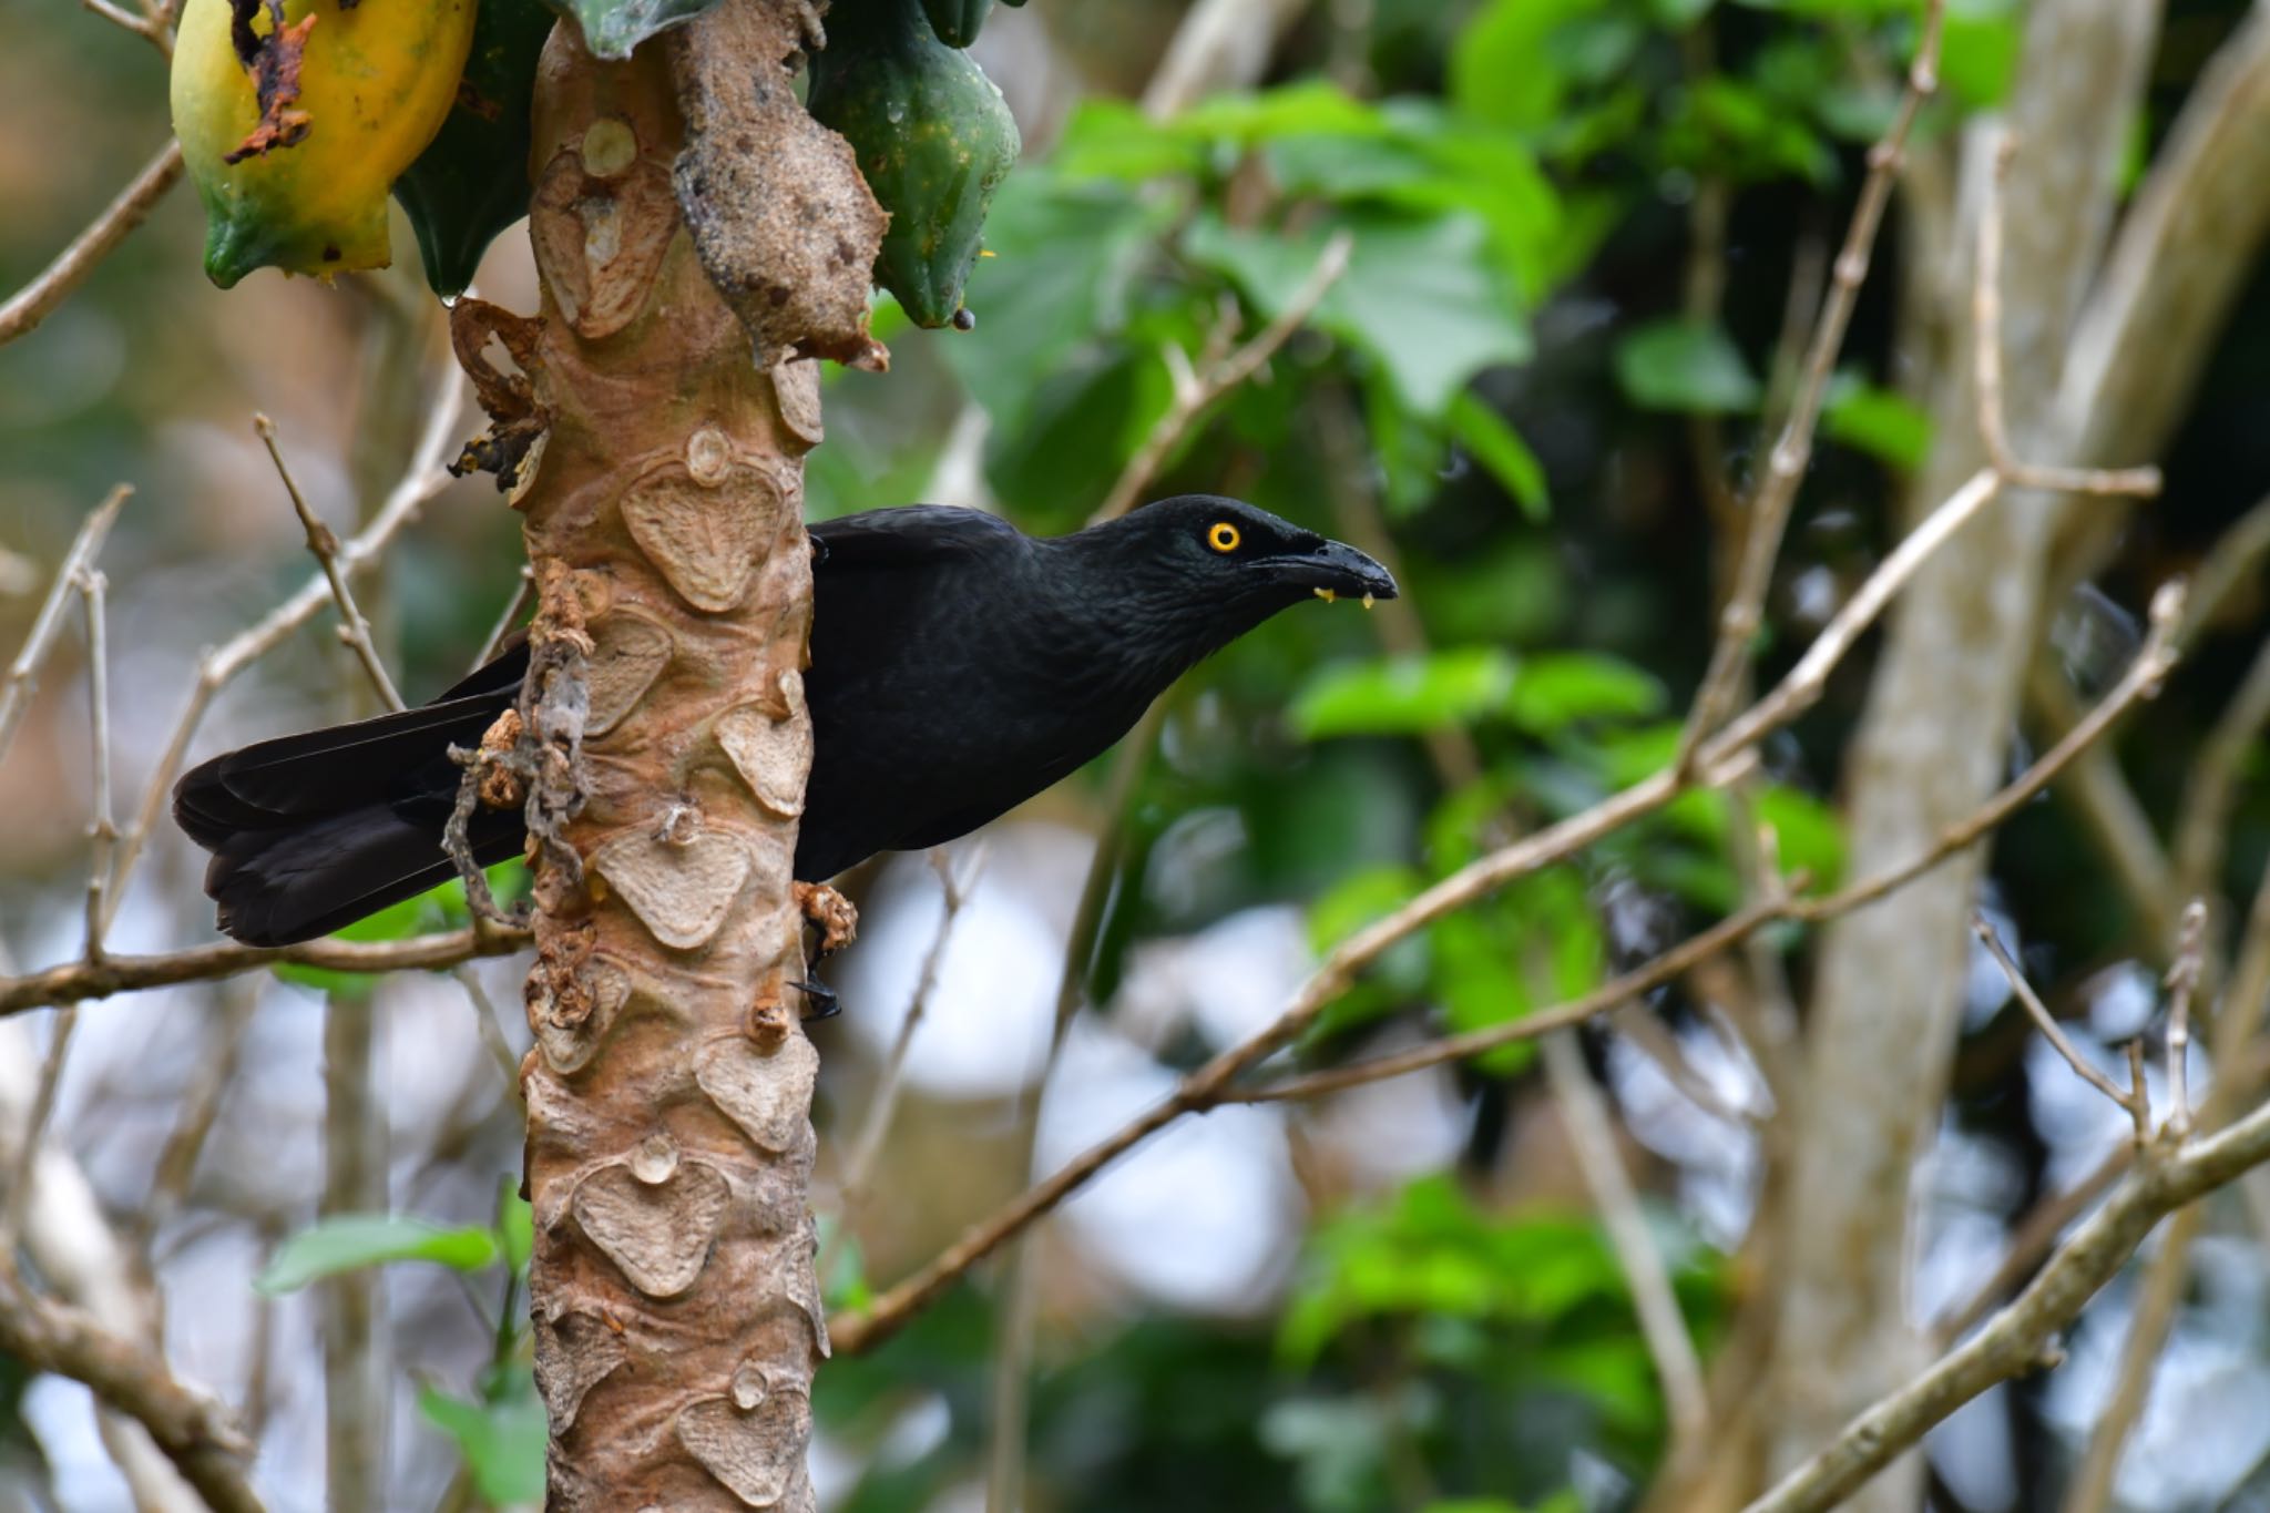
MULTIPOLYGON (((1310 597, 1394 599, 1362 551, 1237 499, 1162 499, 1074 535, 903 506, 810 529, 813 774, 794 873, 976 830, 1103 753, 1192 662, 1310 597)), ((213 853, 204 891, 250 946, 329 935, 454 876, 449 744, 520 696, 527 646, 438 701, 232 751, 173 814, 213 853)), ((472 853, 520 855, 518 810, 472 853)))

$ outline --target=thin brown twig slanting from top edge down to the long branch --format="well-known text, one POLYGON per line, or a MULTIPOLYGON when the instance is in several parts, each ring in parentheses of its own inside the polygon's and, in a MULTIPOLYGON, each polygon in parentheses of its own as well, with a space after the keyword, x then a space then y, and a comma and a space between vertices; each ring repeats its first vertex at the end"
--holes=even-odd
POLYGON ((1702 687, 1696 692, 1693 712, 1680 737, 1678 771, 1691 771, 1705 737, 1718 728, 1734 703, 1737 678, 1750 658, 1750 640, 1757 635, 1766 603, 1766 588, 1773 583, 1773 563, 1782 553, 1782 535, 1789 529, 1789 510, 1798 499, 1798 483, 1814 454, 1814 431, 1821 424, 1821 406, 1827 399, 1830 374, 1836 352, 1843 349, 1846 327, 1852 322, 1852 306, 1859 302, 1859 286, 1868 279, 1868 261, 1875 250, 1877 229, 1884 225, 1884 209, 1891 204, 1891 186, 1900 172, 1900 157, 1907 150, 1907 134, 1923 111, 1923 102, 1939 91, 1939 36, 1945 20, 1945 0, 1927 0, 1923 7, 1923 36, 1916 43, 1916 59, 1907 70, 1907 88, 1900 107, 1884 129, 1882 141, 1868 150, 1868 177, 1861 181, 1859 202, 1846 227, 1843 250, 1836 254, 1830 274, 1827 297, 1821 302, 1821 320, 1814 324, 1814 340, 1805 356, 1796 399, 1782 436, 1773 442, 1766 472, 1750 495, 1748 529, 1741 544, 1741 565, 1734 569, 1734 592, 1718 612, 1718 640, 1712 646, 1702 687))

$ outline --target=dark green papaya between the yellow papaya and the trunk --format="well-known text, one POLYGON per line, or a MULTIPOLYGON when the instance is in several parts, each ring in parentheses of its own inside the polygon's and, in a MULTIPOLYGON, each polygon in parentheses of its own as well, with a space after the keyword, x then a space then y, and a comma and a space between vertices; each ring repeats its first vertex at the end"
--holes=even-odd
POLYGON ((529 213, 536 59, 556 16, 543 0, 479 0, 472 54, 440 134, 400 179, 427 284, 454 299, 497 231, 529 213))

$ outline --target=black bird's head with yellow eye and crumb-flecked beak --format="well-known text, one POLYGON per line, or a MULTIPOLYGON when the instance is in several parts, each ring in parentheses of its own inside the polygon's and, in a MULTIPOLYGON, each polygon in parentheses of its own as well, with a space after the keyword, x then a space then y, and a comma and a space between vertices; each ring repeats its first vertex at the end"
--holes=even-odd
POLYGON ((1219 495, 1160 499, 1081 535, 1108 538, 1153 594, 1235 610, 1248 619, 1239 631, 1310 597, 1396 597, 1394 576, 1355 547, 1219 495))

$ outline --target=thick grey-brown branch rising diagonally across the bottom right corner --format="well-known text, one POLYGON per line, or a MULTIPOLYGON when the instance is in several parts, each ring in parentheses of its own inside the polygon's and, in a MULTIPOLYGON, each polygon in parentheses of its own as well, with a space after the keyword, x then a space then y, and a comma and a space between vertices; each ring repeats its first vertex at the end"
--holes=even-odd
POLYGON ((2161 1218, 2270 1159, 2270 1105, 2191 1146, 2145 1146, 2138 1168, 2007 1309, 1930 1370, 1855 1418, 1743 1513, 1841 1506, 1909 1445, 1998 1381, 2034 1368, 2161 1218))

